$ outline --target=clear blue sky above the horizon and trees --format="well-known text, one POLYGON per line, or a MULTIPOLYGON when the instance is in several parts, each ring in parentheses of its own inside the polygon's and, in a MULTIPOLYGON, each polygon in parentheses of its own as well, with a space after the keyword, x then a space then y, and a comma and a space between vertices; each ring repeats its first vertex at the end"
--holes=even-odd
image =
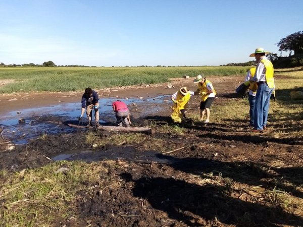
MULTIPOLYGON (((0 62, 217 66, 278 53, 301 0, 0 0, 0 62)), ((287 53, 283 53, 286 55, 287 53)))

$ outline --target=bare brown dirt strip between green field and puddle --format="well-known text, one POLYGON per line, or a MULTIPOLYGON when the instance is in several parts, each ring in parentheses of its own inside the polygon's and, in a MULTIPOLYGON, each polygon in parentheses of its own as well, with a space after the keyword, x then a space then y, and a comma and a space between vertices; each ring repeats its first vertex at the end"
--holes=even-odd
MULTIPOLYGON (((157 85, 138 85, 128 87, 115 87, 110 89, 96 89, 100 98, 107 97, 156 97, 158 95, 170 95, 175 93, 180 87, 187 86, 190 90, 196 90, 194 78, 173 79, 170 83, 157 85), (171 84, 174 88, 168 88, 171 84)), ((221 92, 234 90, 235 86, 242 81, 241 77, 212 77, 216 84, 216 89, 221 92), (230 85, 231 88, 230 89, 230 85)), ((94 88, 93 88, 94 89, 94 88)), ((0 109, 0 114, 22 108, 36 108, 42 106, 51 106, 59 103, 80 102, 83 92, 29 92, 1 94, 0 105, 5 108, 0 109)))

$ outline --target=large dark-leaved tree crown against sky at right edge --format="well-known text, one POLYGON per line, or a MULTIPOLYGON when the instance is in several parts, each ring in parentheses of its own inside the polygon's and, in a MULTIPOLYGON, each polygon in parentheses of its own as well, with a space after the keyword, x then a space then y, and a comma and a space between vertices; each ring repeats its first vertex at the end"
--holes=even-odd
POLYGON ((303 53, 303 31, 292 33, 276 43, 280 51, 293 51, 293 54, 303 53))

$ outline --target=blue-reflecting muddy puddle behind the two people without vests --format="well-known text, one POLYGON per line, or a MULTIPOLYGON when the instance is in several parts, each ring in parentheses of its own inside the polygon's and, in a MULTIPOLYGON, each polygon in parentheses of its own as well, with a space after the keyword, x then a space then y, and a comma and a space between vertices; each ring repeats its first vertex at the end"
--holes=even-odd
MULTIPOLYGON (((99 100, 99 115, 101 124, 115 123, 112 103, 117 98, 102 98, 99 100)), ((168 106, 169 95, 160 95, 153 98, 121 99, 131 111, 132 118, 139 118, 161 111, 168 106), (144 113, 144 116, 142 115, 144 113)), ((0 127, 4 130, 3 136, 16 144, 25 144, 30 139, 47 134, 74 133, 76 129, 65 125, 66 122, 78 124, 77 118, 81 113, 81 103, 60 103, 39 108, 15 109, 5 116, 0 116, 0 127), (23 123, 20 123, 23 121, 23 123)), ((85 121, 85 120, 84 120, 85 121)))

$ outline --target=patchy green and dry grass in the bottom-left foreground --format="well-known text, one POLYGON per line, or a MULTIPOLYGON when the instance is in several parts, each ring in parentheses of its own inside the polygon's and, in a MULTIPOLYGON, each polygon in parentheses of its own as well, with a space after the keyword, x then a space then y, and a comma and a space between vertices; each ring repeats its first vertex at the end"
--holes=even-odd
POLYGON ((59 219, 75 215, 71 206, 76 193, 97 183, 102 187, 102 173, 107 173, 103 165, 79 161, 53 162, 15 173, 1 171, 0 226, 51 226, 58 214, 59 219), (56 173, 61 167, 68 170, 56 173))

